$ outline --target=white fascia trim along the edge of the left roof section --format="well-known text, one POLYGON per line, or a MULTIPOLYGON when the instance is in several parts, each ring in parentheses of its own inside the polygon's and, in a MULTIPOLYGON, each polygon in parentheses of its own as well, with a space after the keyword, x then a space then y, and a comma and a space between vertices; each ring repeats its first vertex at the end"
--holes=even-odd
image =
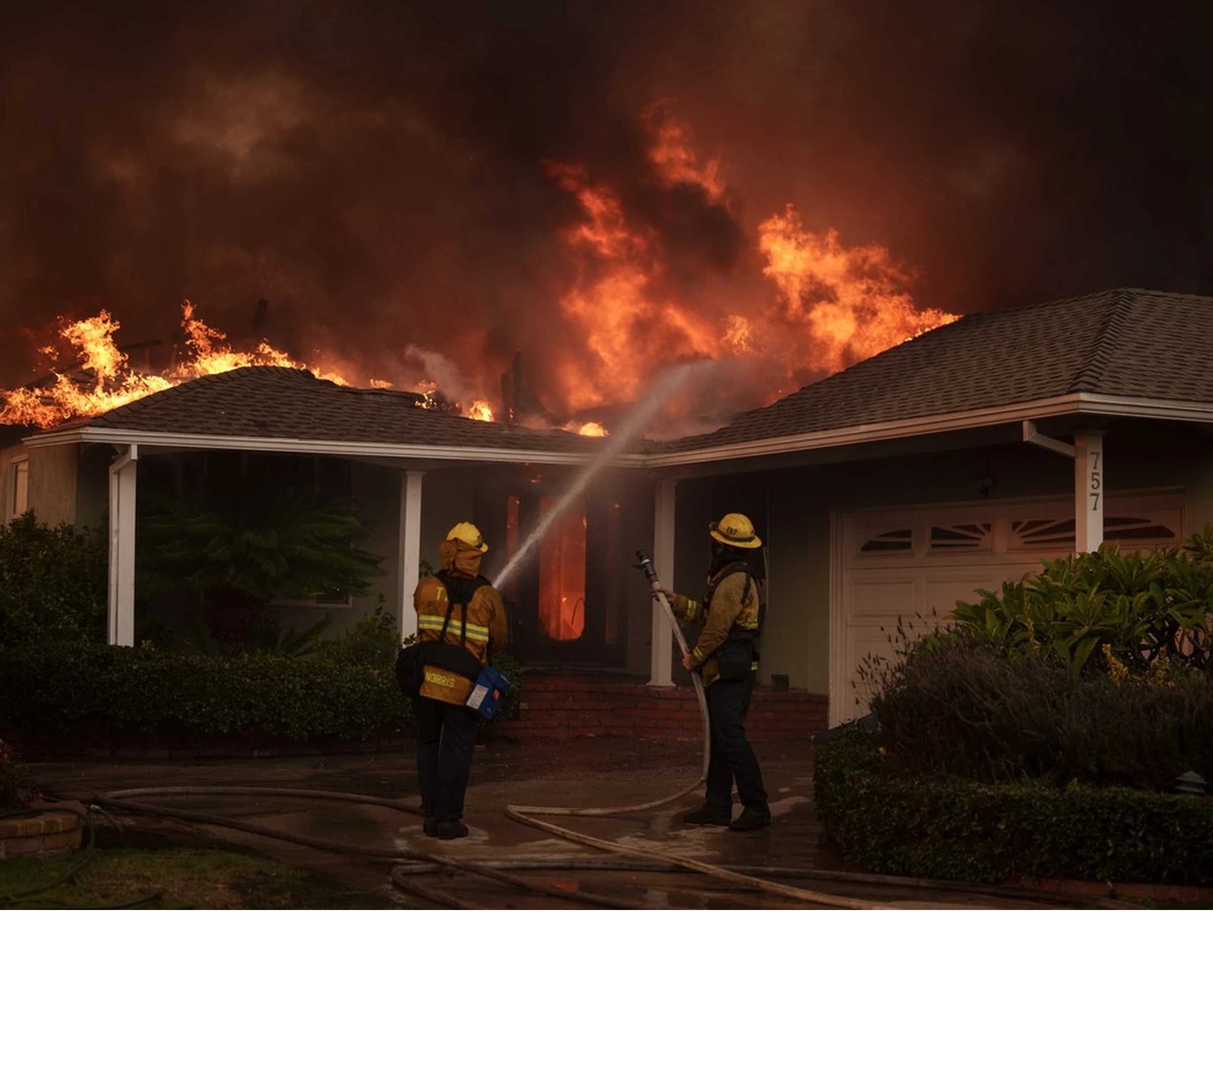
MULTIPOLYGON (((344 455, 372 459, 435 460, 450 462, 541 462, 581 466, 593 461, 597 451, 566 454, 512 448, 455 448, 443 444, 363 444, 349 440, 304 440, 287 437, 192 436, 176 432, 124 432, 118 428, 73 428, 51 436, 24 439, 30 448, 57 444, 139 444, 148 448, 193 448, 206 450, 292 451, 307 455, 344 455)), ((642 455, 621 455, 615 466, 643 466, 642 455)))

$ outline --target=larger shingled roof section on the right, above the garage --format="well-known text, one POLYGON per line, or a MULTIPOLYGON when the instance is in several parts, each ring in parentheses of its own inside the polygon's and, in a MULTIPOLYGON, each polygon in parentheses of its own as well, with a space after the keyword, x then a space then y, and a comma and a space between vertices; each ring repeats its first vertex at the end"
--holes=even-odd
POLYGON ((1112 289, 969 314, 660 447, 708 450, 1083 392, 1213 404, 1213 297, 1112 289))

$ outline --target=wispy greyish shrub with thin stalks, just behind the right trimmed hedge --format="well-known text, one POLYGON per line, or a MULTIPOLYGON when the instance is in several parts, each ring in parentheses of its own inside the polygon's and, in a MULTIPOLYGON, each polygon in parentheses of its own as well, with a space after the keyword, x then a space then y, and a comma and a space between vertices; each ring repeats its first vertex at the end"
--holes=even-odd
POLYGON ((871 707, 901 773, 1164 791, 1194 769, 1213 781, 1205 672, 1075 676, 962 631, 919 638, 877 673, 871 707))

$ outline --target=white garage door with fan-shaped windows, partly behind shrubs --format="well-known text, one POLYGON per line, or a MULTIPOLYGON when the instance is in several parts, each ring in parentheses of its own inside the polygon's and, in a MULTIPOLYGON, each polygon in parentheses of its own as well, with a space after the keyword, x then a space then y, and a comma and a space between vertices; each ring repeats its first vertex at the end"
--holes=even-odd
MULTIPOLYGON (((1183 496, 1109 495, 1105 541, 1147 548, 1184 535, 1183 496)), ((1069 497, 998 505, 882 508, 835 516, 831 723, 867 709, 875 658, 899 627, 922 631, 957 599, 997 590, 1074 551, 1069 497)))

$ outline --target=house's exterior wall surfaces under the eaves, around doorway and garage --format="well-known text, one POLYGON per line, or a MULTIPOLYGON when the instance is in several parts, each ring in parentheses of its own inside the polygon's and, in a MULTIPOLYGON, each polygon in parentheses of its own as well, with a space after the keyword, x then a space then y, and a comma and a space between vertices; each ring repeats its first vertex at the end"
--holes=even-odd
MULTIPOLYGON (((1188 506, 1184 533, 1213 524, 1213 455, 1208 438, 1198 426, 1111 422, 1105 438, 1109 493, 1179 489, 1188 506)), ((81 451, 78 445, 28 449, 10 444, 0 449, 0 504, 8 504, 8 465, 15 457, 28 457, 29 499, 39 521, 96 528, 107 507, 112 455, 106 447, 81 451)), ((328 636, 337 636, 374 609, 378 593, 394 612, 402 592, 411 592, 398 586, 400 478, 402 471, 392 467, 353 467, 355 500, 375 528, 365 545, 385 557, 386 574, 372 593, 355 599, 351 608, 281 608, 284 625, 300 631, 328 612, 332 619, 328 636)), ((471 518, 482 523, 489 538, 486 575, 492 578, 500 570, 505 542, 496 517, 485 522, 483 490, 478 493, 484 480, 483 470, 426 473, 421 557, 431 565, 439 563, 438 542, 446 530, 471 518)), ((636 548, 653 546, 654 487, 649 476, 627 479, 622 472, 611 488, 616 485, 627 497, 620 542, 628 567, 623 670, 647 676, 653 604, 645 581, 632 573, 631 565, 636 548)), ((832 513, 883 506, 978 504, 984 497, 993 506, 1019 497, 1069 496, 1072 489, 1074 466, 1069 459, 1025 443, 685 479, 676 494, 674 571, 659 575, 667 586, 697 595, 710 556, 707 524, 727 511, 745 512, 763 535, 768 565, 769 605, 759 682, 770 684, 773 676, 787 676, 793 689, 825 694, 830 686, 832 513)), ((687 682, 677 665, 674 679, 687 682)))

